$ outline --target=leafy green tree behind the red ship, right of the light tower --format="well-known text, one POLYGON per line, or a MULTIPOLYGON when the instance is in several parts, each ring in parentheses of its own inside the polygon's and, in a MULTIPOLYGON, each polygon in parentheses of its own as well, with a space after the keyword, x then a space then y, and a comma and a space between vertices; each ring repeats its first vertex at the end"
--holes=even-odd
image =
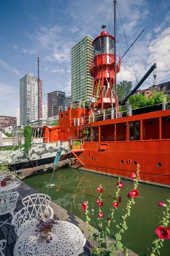
POLYGON ((117 84, 118 101, 123 101, 132 91, 132 82, 124 80, 117 84))

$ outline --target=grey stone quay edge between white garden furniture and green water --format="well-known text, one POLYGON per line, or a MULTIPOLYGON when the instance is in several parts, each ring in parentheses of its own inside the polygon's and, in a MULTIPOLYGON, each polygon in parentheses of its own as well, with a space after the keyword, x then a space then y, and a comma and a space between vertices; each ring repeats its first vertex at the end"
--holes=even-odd
MULTIPOLYGON (((39 193, 38 191, 36 191, 35 189, 33 189, 32 187, 30 187, 29 185, 27 185, 26 183, 24 183, 22 180, 18 180, 21 185, 16 188, 16 190, 21 194, 22 198, 31 194, 35 194, 35 193, 39 193)), ((50 206, 52 207, 54 214, 59 218, 59 220, 64 220, 64 221, 68 221, 71 222, 73 224, 75 224, 77 227, 80 228, 80 230, 82 231, 82 233, 85 235, 87 242, 89 242, 91 245, 92 240, 88 239, 90 233, 88 230, 88 226, 86 225, 86 223, 84 221, 82 221, 80 218, 76 217, 74 214, 68 212, 67 210, 65 210, 64 208, 62 208, 61 206, 57 205, 54 202, 50 202, 50 206)), ((93 232, 98 232, 98 230, 96 228, 93 228, 93 232)), ((84 246, 84 254, 83 255, 89 255, 91 250, 88 247, 86 242, 86 245, 84 246)), ((106 239, 106 243, 107 245, 109 245, 109 243, 114 242, 113 239, 107 237, 106 239)), ((97 245, 97 243, 96 243, 97 245)), ((123 256, 123 253, 116 253, 116 255, 118 256, 123 256)), ((138 256, 136 253, 134 253, 133 251, 128 249, 128 255, 129 256, 138 256)))

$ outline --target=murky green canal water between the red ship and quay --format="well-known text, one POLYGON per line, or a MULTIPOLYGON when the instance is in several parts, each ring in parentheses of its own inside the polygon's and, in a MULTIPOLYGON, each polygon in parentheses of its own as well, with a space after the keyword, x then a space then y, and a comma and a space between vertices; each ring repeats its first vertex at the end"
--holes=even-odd
MULTIPOLYGON (((46 193, 47 187, 51 179, 52 172, 44 173, 37 176, 25 178, 24 182, 31 185, 40 193, 46 193)), ((121 222, 120 215, 125 214, 123 208, 126 207, 128 198, 127 194, 131 191, 133 183, 127 180, 121 180, 124 183, 121 189, 122 203, 115 211, 117 223, 121 222)), ((82 171, 74 168, 62 168, 55 171, 48 195, 51 200, 67 211, 73 213, 77 217, 85 220, 85 215, 81 209, 82 202, 89 202, 89 209, 94 209, 91 216, 91 225, 96 226, 98 206, 96 204, 97 186, 102 184, 104 187, 103 207, 104 219, 107 220, 107 214, 112 208, 114 199, 109 198, 111 195, 115 197, 117 190, 116 184, 118 178, 107 175, 82 171), (93 186, 93 187, 90 187, 93 186)), ((159 226, 162 216, 163 207, 159 207, 158 203, 166 203, 166 199, 170 198, 170 189, 158 186, 139 183, 139 197, 135 198, 135 204, 132 205, 131 215, 128 217, 128 230, 122 233, 123 243, 127 243, 129 249, 137 253, 139 256, 149 253, 147 249, 156 237, 155 228, 159 226)), ((104 225, 106 223, 104 222, 104 225)), ((111 230, 117 232, 116 224, 112 224, 111 230)), ((163 242, 164 247, 160 249, 161 255, 169 255, 170 240, 163 242)))

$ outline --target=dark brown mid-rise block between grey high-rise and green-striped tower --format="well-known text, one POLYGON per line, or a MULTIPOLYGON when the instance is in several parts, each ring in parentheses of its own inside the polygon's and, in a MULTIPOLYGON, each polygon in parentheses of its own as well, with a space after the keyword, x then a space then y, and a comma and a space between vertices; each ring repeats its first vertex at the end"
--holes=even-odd
POLYGON ((59 108, 64 109, 66 105, 65 92, 54 91, 47 93, 47 113, 48 117, 56 116, 59 113, 59 108))

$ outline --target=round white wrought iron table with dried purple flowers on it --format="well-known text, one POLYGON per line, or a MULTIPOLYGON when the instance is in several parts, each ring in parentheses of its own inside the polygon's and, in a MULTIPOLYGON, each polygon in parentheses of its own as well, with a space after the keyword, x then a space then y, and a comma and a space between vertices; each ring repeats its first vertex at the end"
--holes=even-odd
POLYGON ((67 221, 57 221, 52 228, 50 243, 39 242, 36 225, 25 231, 17 240, 14 256, 77 256, 83 252, 86 238, 81 230, 67 221))

